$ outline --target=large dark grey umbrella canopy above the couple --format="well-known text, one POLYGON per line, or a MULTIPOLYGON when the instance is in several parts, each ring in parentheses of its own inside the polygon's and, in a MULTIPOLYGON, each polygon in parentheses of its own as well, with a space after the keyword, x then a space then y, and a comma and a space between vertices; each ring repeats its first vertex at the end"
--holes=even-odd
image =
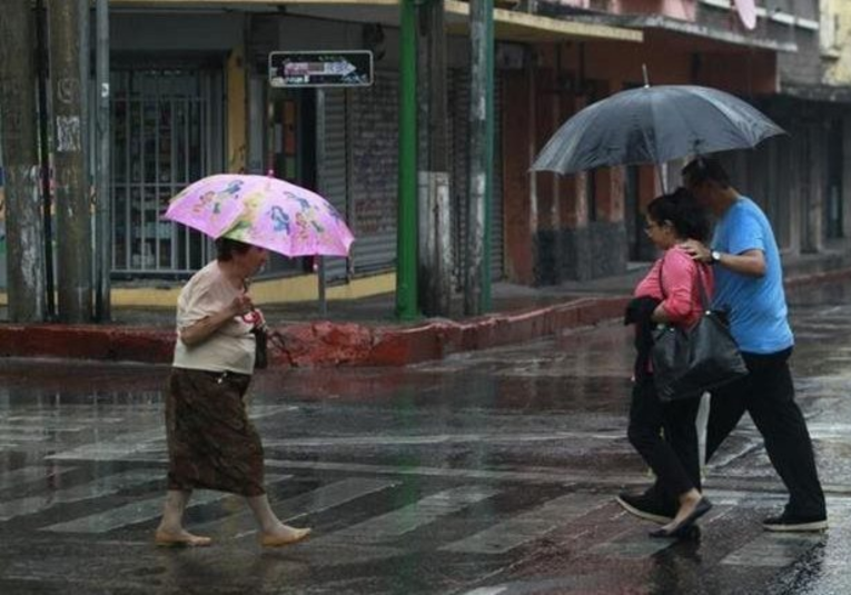
POLYGON ((533 171, 575 173, 603 166, 662 163, 690 155, 755 147, 784 130, 718 89, 643 87, 597 101, 567 120, 533 171))

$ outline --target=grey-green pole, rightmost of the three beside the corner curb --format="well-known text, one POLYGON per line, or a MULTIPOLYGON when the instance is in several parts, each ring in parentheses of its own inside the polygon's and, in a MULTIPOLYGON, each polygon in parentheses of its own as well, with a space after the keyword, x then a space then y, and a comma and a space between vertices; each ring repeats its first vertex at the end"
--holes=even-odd
POLYGON ((471 0, 469 202, 464 314, 491 309, 491 196, 494 163, 494 2, 471 0))

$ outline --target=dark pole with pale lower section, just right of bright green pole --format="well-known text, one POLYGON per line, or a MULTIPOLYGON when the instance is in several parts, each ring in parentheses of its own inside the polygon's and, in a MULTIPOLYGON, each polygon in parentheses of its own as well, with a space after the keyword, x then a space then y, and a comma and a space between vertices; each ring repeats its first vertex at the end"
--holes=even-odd
POLYGON ((448 316, 452 304, 449 121, 444 0, 419 4, 419 304, 448 316))

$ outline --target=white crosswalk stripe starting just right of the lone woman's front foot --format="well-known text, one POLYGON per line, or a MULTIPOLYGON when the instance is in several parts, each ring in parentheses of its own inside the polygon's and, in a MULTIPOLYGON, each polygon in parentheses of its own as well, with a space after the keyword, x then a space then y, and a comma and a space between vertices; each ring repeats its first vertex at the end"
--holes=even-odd
POLYGON ((377 544, 416 530, 437 518, 462 510, 497 494, 497 489, 463 486, 426 496, 397 510, 335 532, 324 539, 377 544))

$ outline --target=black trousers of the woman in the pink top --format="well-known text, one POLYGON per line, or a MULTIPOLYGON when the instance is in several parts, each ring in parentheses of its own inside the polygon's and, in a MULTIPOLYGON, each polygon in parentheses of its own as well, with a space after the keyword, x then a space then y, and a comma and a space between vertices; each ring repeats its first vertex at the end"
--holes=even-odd
POLYGON ((699 408, 696 398, 660 401, 651 376, 633 386, 627 436, 656 474, 654 492, 672 506, 679 506, 682 494, 701 487, 699 408))

